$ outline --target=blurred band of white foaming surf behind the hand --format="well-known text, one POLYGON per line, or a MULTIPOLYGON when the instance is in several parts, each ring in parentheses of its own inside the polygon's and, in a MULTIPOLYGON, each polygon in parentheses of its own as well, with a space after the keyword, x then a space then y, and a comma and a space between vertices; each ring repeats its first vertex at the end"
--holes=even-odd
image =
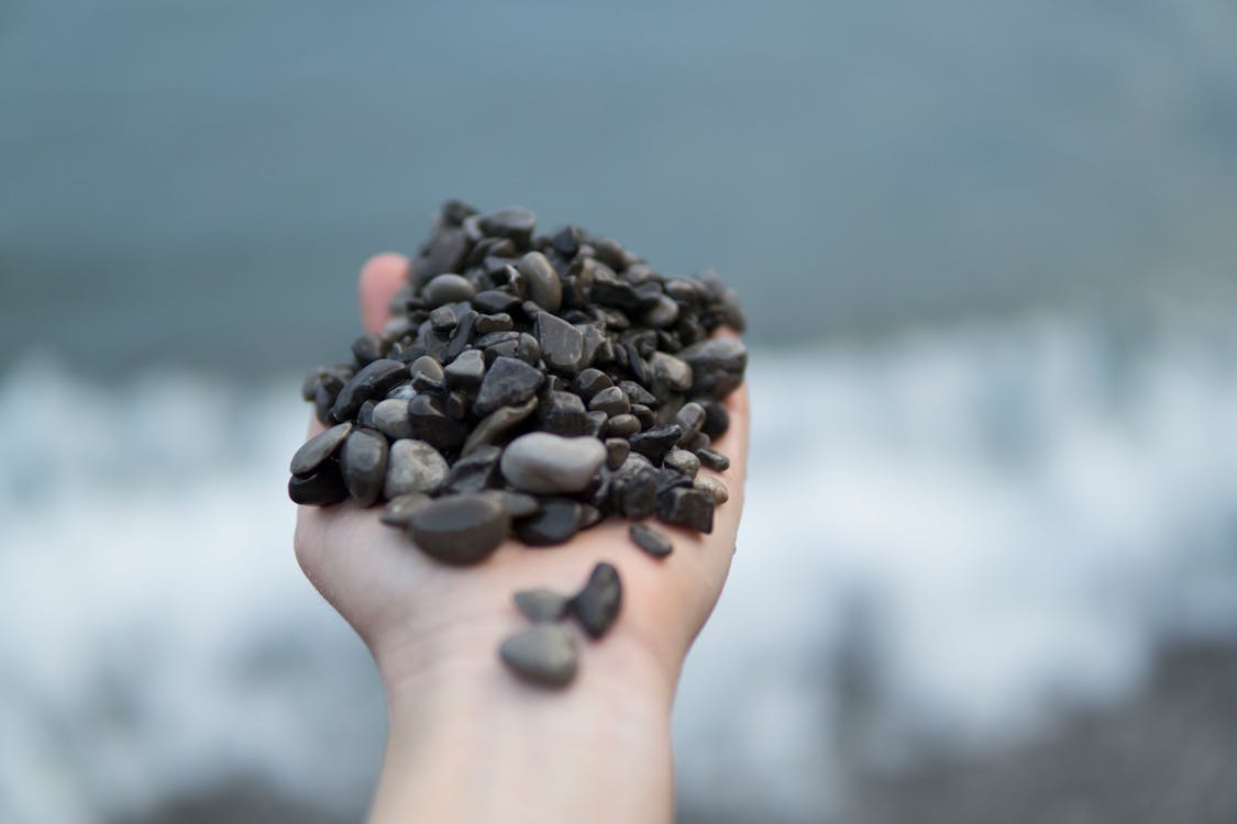
MULTIPOLYGON (((382 696, 292 556, 296 384, 33 353, 0 378, 0 820, 235 781, 364 809, 382 696)), ((675 707, 685 807, 830 820, 856 765, 1033 739, 1162 644, 1237 637, 1237 314, 758 346, 751 388, 738 553, 675 707)))

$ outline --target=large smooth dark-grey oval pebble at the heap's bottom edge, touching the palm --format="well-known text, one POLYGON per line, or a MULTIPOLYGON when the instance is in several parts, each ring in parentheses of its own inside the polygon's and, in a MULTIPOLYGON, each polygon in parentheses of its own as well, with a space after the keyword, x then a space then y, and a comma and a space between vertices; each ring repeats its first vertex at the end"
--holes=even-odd
POLYGON ((455 565, 490 557, 510 529, 507 510, 486 495, 439 498, 417 508, 408 523, 408 532, 422 551, 455 565))

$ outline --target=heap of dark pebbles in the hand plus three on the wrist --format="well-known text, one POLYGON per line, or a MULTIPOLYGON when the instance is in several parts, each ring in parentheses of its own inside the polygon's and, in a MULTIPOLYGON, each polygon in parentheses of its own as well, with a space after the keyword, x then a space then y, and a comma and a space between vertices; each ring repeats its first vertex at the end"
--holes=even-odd
MULTIPOLYGON (((738 338, 711 336, 743 329, 734 290, 713 272, 662 275, 575 226, 534 230, 524 209, 443 205, 382 332, 306 378, 327 429, 292 458, 292 500, 386 502, 385 524, 454 565, 484 561, 512 535, 562 544, 611 515, 633 521, 633 542, 659 557, 672 542, 642 521, 713 530, 727 492, 698 473, 730 466, 710 445, 747 366, 738 338)), ((614 567, 599 574, 612 577, 604 625, 581 615, 588 586, 555 615, 575 615, 594 637, 621 595, 614 567)), ((554 633, 538 623, 528 635, 554 633)), ((570 681, 574 656, 526 649, 549 646, 517 637, 501 652, 534 681, 570 681), (554 656, 570 667, 541 666, 554 656)))

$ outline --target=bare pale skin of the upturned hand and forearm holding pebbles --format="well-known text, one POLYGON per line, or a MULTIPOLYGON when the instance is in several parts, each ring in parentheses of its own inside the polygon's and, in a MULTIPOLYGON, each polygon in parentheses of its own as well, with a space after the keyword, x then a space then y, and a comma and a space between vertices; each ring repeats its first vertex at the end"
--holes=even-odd
MULTIPOLYGON (((398 254, 365 264, 367 330, 386 322, 407 266, 398 254)), ((632 544, 628 521, 611 520, 563 546, 508 541, 480 565, 449 567, 381 524, 377 508, 299 508, 301 568, 369 646, 386 687, 390 734, 372 824, 672 820, 670 705, 726 581, 743 504, 746 388, 726 404, 731 427, 714 446, 731 466, 714 474, 730 500, 710 535, 658 524, 674 541, 663 560, 632 544), (512 593, 573 593, 600 561, 622 577, 614 629, 593 641, 571 628, 580 672, 569 687, 521 682, 496 652, 529 626, 512 593)))

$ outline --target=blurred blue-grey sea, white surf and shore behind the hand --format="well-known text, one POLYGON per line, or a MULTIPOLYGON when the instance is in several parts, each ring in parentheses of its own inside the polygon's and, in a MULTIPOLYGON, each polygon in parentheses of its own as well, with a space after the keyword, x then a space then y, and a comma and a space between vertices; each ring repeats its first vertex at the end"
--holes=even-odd
POLYGON ((438 204, 751 321, 679 819, 1237 820, 1237 7, 0 4, 0 820, 359 820, 304 371, 438 204))

